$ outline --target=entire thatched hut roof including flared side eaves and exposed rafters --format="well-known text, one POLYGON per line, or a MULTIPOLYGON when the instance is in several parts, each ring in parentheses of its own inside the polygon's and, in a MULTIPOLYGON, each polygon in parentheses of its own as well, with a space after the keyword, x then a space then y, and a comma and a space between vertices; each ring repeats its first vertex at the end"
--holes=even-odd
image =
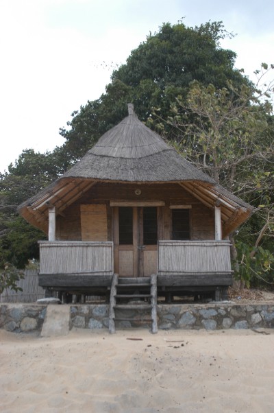
POLYGON ((129 115, 108 130, 86 155, 62 177, 18 207, 31 224, 47 231, 48 204, 62 212, 95 182, 177 182, 208 207, 223 200, 222 218, 227 231, 244 222, 252 208, 217 185, 151 129, 129 104, 129 115))

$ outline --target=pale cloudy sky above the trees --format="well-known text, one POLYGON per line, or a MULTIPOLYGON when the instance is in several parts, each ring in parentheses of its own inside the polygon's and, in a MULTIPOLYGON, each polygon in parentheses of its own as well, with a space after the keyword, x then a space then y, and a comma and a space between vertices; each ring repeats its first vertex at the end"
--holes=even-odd
POLYGON ((25 149, 62 145, 71 113, 162 23, 223 21, 236 36, 221 46, 256 81, 274 63, 273 16, 273 0, 0 0, 0 172, 25 149))

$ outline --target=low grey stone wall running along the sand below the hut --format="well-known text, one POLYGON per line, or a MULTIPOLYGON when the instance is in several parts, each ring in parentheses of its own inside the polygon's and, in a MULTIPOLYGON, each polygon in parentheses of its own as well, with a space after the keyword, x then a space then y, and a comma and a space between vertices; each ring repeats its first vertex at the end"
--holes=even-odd
MULTIPOLYGON (((71 325, 81 329, 108 329, 108 305, 70 305, 71 325)), ((1 304, 0 328, 14 333, 40 332, 47 305, 1 304)), ((133 321, 116 323, 117 329, 150 328, 149 313, 127 310, 116 314, 133 321), (144 322, 134 321, 142 318, 144 322)), ((158 305, 159 329, 256 329, 274 327, 274 304, 158 305)))

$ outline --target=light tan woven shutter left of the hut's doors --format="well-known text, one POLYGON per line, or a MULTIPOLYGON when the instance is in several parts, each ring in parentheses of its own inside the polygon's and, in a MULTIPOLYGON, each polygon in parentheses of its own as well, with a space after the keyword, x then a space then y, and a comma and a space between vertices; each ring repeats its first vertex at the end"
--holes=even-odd
POLYGON ((108 241, 105 205, 81 205, 82 241, 108 241))

